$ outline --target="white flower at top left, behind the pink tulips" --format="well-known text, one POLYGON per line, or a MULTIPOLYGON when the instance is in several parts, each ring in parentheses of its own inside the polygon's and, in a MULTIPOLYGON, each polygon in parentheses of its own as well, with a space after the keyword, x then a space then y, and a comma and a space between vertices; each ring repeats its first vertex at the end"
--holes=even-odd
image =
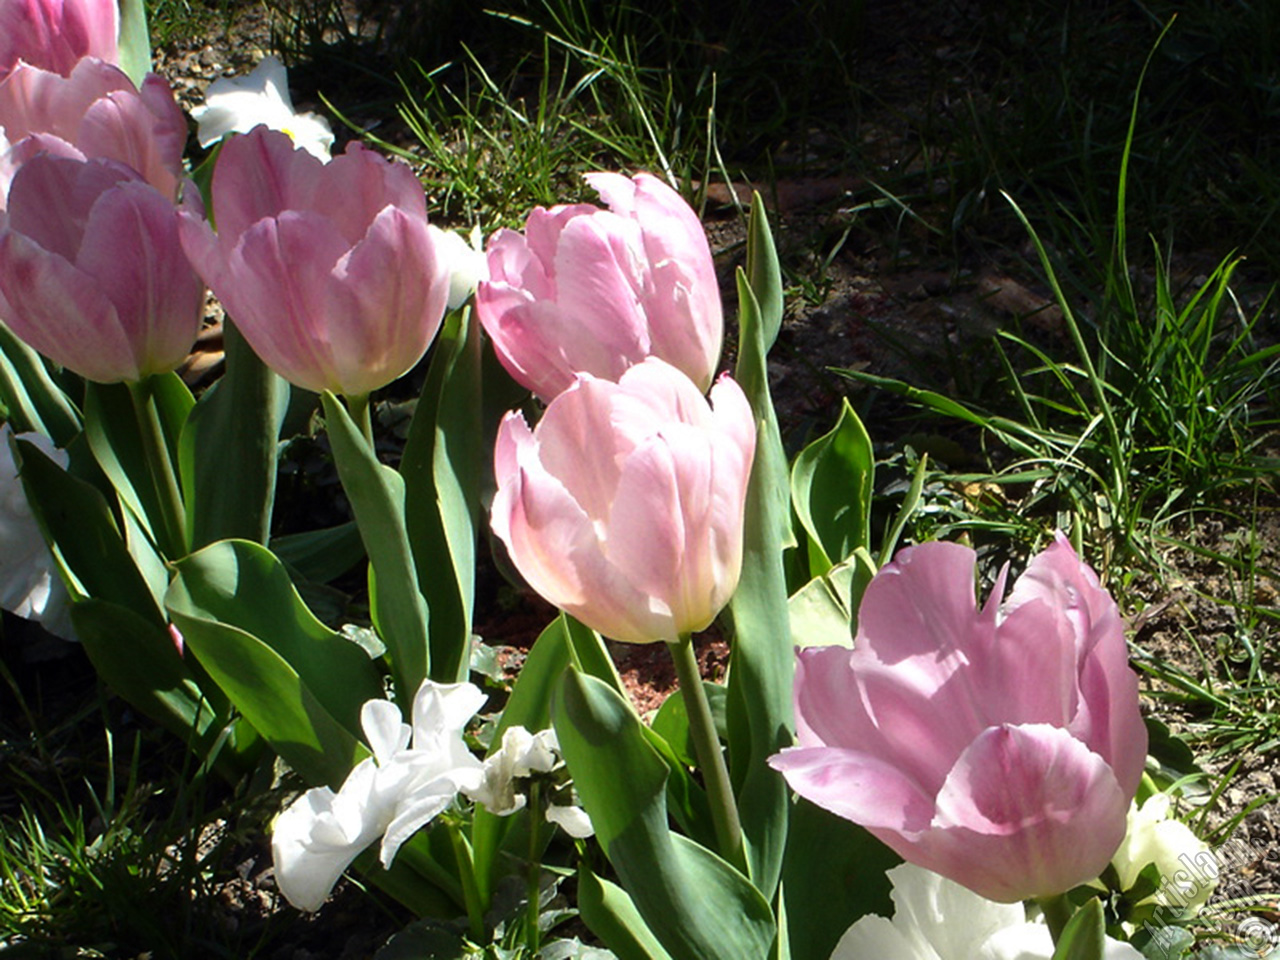
POLYGON ((260 124, 288 133, 294 146, 325 161, 333 146, 326 119, 293 110, 284 64, 274 56, 264 56, 246 77, 215 79, 205 91, 205 105, 191 115, 198 124, 196 136, 202 147, 212 146, 228 133, 248 133, 260 124))

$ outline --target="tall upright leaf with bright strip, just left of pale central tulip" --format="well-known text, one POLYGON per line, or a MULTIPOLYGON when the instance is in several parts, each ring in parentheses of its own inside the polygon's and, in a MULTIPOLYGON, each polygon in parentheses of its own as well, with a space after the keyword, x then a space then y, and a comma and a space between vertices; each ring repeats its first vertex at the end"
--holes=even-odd
POLYGON ((401 475, 419 590, 431 611, 431 677, 466 680, 480 513, 480 325, 470 307, 444 320, 413 412, 401 475))

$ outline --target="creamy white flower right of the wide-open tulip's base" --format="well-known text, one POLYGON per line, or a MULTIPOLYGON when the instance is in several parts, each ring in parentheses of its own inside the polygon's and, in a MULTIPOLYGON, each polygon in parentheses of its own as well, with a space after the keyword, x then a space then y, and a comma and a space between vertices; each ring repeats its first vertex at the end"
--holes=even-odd
POLYGON ((1164 906, 1197 913, 1217 886, 1219 863, 1208 844, 1170 815, 1167 794, 1152 794, 1129 808, 1129 828, 1111 858, 1120 890, 1130 890, 1147 864, 1160 870, 1160 890, 1149 897, 1164 906))

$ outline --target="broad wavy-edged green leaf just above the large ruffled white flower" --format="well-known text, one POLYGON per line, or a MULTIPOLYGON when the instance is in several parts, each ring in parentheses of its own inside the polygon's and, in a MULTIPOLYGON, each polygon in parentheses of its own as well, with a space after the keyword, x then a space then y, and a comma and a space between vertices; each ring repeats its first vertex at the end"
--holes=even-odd
MULTIPOLYGON (((378 669, 364 650, 311 614, 270 550, 248 540, 223 540, 179 561, 175 568, 166 598, 169 612, 200 662, 246 717, 261 717, 265 708, 247 704, 244 698, 268 700, 276 694, 268 689, 265 677, 260 690, 252 684, 229 689, 223 677, 238 684, 237 671, 247 662, 260 662, 274 671, 278 687, 294 695, 294 708, 305 705, 298 699, 305 689, 328 717, 358 733, 360 708, 383 695, 378 669), (198 636, 192 639, 188 628, 198 636), (218 637, 232 634, 237 636, 225 649, 218 645, 218 637), (224 657, 234 662, 224 663, 224 657)), ((306 719, 306 714, 294 716, 288 723, 305 724, 306 719)), ((283 736, 276 728, 251 722, 273 744, 283 736)))

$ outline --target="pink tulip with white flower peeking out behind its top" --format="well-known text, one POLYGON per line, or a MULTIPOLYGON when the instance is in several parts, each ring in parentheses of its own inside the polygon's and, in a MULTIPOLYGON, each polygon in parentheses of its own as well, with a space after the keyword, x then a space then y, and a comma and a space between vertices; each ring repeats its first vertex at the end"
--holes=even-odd
POLYGON ((422 357, 449 271, 408 166, 358 143, 325 164, 257 127, 223 147, 212 192, 218 236, 187 216, 182 242, 268 366, 361 396, 422 357))

